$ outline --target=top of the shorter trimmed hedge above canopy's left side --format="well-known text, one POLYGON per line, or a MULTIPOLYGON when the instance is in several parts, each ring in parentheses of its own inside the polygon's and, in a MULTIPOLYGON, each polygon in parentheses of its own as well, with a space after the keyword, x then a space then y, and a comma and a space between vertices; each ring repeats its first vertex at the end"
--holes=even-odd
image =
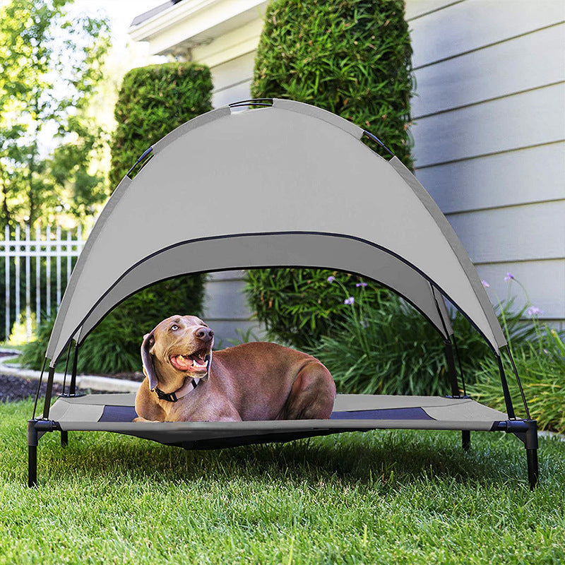
POLYGON ((115 109, 110 184, 115 188, 138 157, 169 131, 212 109, 207 66, 167 63, 124 76, 115 109))

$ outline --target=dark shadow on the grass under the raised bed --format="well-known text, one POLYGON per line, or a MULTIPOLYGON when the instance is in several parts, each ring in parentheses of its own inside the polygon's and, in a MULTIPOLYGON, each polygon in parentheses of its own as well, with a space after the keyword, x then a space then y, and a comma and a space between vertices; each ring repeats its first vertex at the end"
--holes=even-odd
MULTIPOLYGON (((246 480, 316 486, 333 482, 383 489, 434 480, 485 486, 525 482, 521 442, 500 434, 472 434, 468 453, 460 447, 460 432, 353 432, 214 451, 184 451, 105 432, 71 433, 70 446, 60 448, 54 444, 59 434, 54 436, 40 442, 40 475, 86 475, 118 482, 125 476, 132 481, 176 484, 246 480)), ((49 478, 44 475, 43 480, 49 478)))

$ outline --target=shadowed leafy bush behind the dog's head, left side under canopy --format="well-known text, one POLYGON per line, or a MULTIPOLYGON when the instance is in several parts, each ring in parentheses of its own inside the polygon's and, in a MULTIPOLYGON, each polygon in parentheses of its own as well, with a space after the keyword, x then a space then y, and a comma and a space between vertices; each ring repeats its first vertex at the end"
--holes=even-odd
MULTIPOLYGON (((78 355, 80 373, 120 373, 141 370, 143 334, 173 314, 194 314, 202 309, 202 278, 173 278, 157 283, 124 300, 88 335, 78 355)), ((36 341, 21 357, 25 367, 40 369, 54 317, 45 321, 36 341)), ((64 362, 59 362, 59 370, 64 362)))

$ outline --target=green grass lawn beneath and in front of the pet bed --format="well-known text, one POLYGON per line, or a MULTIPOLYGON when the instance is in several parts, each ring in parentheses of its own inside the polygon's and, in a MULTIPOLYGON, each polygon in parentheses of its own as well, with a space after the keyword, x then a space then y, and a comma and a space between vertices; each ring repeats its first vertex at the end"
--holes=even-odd
POLYGON ((565 561, 565 442, 541 484, 506 434, 376 431, 183 451, 46 434, 28 489, 29 401, 0 405, 0 564, 542 564, 565 561))

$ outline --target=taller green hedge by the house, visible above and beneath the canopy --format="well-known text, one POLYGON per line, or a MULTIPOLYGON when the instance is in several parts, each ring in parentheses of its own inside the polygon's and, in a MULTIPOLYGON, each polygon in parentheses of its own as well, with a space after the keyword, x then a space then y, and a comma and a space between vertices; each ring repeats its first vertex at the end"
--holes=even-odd
MULTIPOLYGON (((376 135, 411 168, 411 55, 403 0, 273 0, 251 95, 339 114, 376 135)), ((277 269, 249 271, 246 283, 249 304, 269 337, 308 348, 345 321, 344 299, 355 298, 362 281, 325 270, 277 269), (344 285, 353 290, 345 292, 344 285)), ((376 299, 370 296, 366 300, 376 299)))

